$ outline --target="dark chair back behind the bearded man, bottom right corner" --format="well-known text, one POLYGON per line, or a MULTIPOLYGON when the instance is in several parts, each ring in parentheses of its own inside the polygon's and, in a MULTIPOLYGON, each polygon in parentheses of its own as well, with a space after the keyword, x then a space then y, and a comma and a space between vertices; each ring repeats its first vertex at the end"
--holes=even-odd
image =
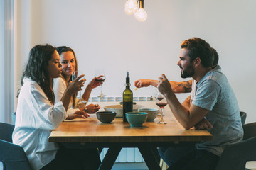
POLYGON ((215 170, 244 170, 247 161, 256 161, 256 123, 245 124, 242 128, 243 140, 224 149, 215 170))

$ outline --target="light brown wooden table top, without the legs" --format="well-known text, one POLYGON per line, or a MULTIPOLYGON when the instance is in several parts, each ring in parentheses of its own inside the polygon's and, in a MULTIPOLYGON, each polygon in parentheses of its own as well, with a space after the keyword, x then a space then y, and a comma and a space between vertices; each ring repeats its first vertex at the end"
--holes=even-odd
MULTIPOLYGON (((118 102, 98 103, 103 110, 104 105, 118 104, 118 102)), ((154 102, 138 102, 146 108, 158 108, 154 102)), ((65 121, 51 132, 50 142, 197 142, 213 140, 207 130, 185 130, 174 118, 168 106, 164 111, 164 121, 159 125, 157 116, 154 122, 145 122, 142 127, 131 127, 123 123, 122 118, 115 118, 112 123, 101 123, 95 114, 90 118, 65 121)))

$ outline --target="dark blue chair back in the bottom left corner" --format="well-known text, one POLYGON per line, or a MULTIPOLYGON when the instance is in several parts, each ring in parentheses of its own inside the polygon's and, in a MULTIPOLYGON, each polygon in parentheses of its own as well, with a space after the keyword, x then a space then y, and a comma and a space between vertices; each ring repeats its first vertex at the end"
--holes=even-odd
POLYGON ((22 147, 11 142, 0 140, 0 161, 5 170, 30 170, 31 166, 22 147))

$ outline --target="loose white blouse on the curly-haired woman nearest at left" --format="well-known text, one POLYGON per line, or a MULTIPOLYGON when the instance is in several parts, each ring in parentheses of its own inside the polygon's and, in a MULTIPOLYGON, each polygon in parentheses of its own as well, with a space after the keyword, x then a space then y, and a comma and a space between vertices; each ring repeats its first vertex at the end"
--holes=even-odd
POLYGON ((54 106, 33 80, 23 79, 18 97, 13 142, 23 147, 32 169, 41 169, 55 158, 58 145, 48 142, 50 132, 67 118, 62 102, 54 106))

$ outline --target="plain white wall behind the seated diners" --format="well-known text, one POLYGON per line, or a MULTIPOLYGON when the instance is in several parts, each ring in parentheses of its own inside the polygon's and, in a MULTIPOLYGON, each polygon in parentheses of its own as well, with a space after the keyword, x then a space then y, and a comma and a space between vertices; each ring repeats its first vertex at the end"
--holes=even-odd
MULTIPOLYGON (((21 0, 17 10, 17 54, 20 77, 31 47, 41 43, 67 45, 89 81, 97 67, 105 69, 103 92, 121 96, 126 71, 132 85, 139 78, 183 81, 176 66, 180 43, 205 39, 219 55, 219 64, 238 98, 247 123, 255 115, 255 0, 145 0, 148 18, 137 21, 124 13, 125 0, 21 0), (25 55, 26 54, 26 55, 25 55), (21 57, 21 59, 20 59, 21 57)), ((133 89, 134 86, 132 86, 133 89)), ((154 95, 153 87, 134 96, 154 95)), ((92 96, 100 94, 100 88, 92 96)), ((187 96, 178 95, 180 99, 187 96)))

